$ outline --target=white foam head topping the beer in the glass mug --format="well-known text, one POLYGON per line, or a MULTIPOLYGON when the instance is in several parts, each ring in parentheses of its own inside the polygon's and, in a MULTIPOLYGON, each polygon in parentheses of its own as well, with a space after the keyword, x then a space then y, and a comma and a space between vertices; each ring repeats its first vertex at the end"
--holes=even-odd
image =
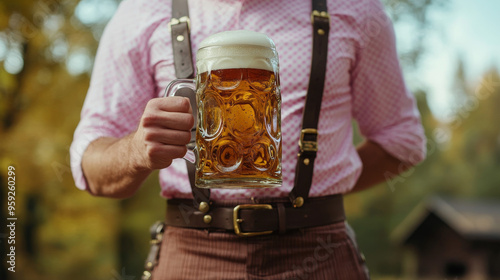
POLYGON ((232 68, 277 72, 278 54, 265 34, 248 30, 225 31, 209 36, 196 53, 198 73, 232 68))

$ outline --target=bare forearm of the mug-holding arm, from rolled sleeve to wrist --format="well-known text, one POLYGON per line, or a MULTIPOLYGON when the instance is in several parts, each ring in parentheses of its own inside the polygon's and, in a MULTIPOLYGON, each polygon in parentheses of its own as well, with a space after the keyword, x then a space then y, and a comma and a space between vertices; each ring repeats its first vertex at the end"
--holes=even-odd
POLYGON ((151 170, 139 170, 134 166, 131 137, 99 138, 89 145, 83 156, 82 169, 90 193, 104 197, 130 197, 151 173, 151 170))

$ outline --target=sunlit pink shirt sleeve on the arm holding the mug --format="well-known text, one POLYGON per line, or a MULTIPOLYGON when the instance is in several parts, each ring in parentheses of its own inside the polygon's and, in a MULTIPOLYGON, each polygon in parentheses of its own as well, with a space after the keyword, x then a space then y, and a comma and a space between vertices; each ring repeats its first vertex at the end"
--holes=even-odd
POLYGON ((70 148, 71 170, 79 189, 88 190, 82 156, 101 137, 123 137, 135 131, 146 103, 155 97, 149 63, 148 30, 124 1, 106 26, 94 62, 91 82, 70 148))

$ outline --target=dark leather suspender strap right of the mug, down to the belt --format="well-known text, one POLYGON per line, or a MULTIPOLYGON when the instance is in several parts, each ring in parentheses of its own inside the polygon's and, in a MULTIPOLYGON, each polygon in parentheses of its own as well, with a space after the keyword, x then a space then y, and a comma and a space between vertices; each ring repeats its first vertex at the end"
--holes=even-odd
POLYGON ((295 169, 295 182, 289 198, 295 207, 300 207, 309 196, 314 171, 314 160, 318 151, 318 120, 325 85, 326 61, 330 16, 326 0, 313 0, 311 21, 313 25, 313 47, 311 74, 306 103, 302 117, 299 154, 295 169))

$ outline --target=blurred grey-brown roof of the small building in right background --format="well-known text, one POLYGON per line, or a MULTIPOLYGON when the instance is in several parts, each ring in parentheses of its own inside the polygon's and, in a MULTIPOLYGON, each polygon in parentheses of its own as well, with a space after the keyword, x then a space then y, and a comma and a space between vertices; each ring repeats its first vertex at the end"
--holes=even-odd
POLYGON ((408 243, 434 217, 466 240, 500 241, 500 201, 438 196, 418 205, 394 230, 392 239, 408 243))

